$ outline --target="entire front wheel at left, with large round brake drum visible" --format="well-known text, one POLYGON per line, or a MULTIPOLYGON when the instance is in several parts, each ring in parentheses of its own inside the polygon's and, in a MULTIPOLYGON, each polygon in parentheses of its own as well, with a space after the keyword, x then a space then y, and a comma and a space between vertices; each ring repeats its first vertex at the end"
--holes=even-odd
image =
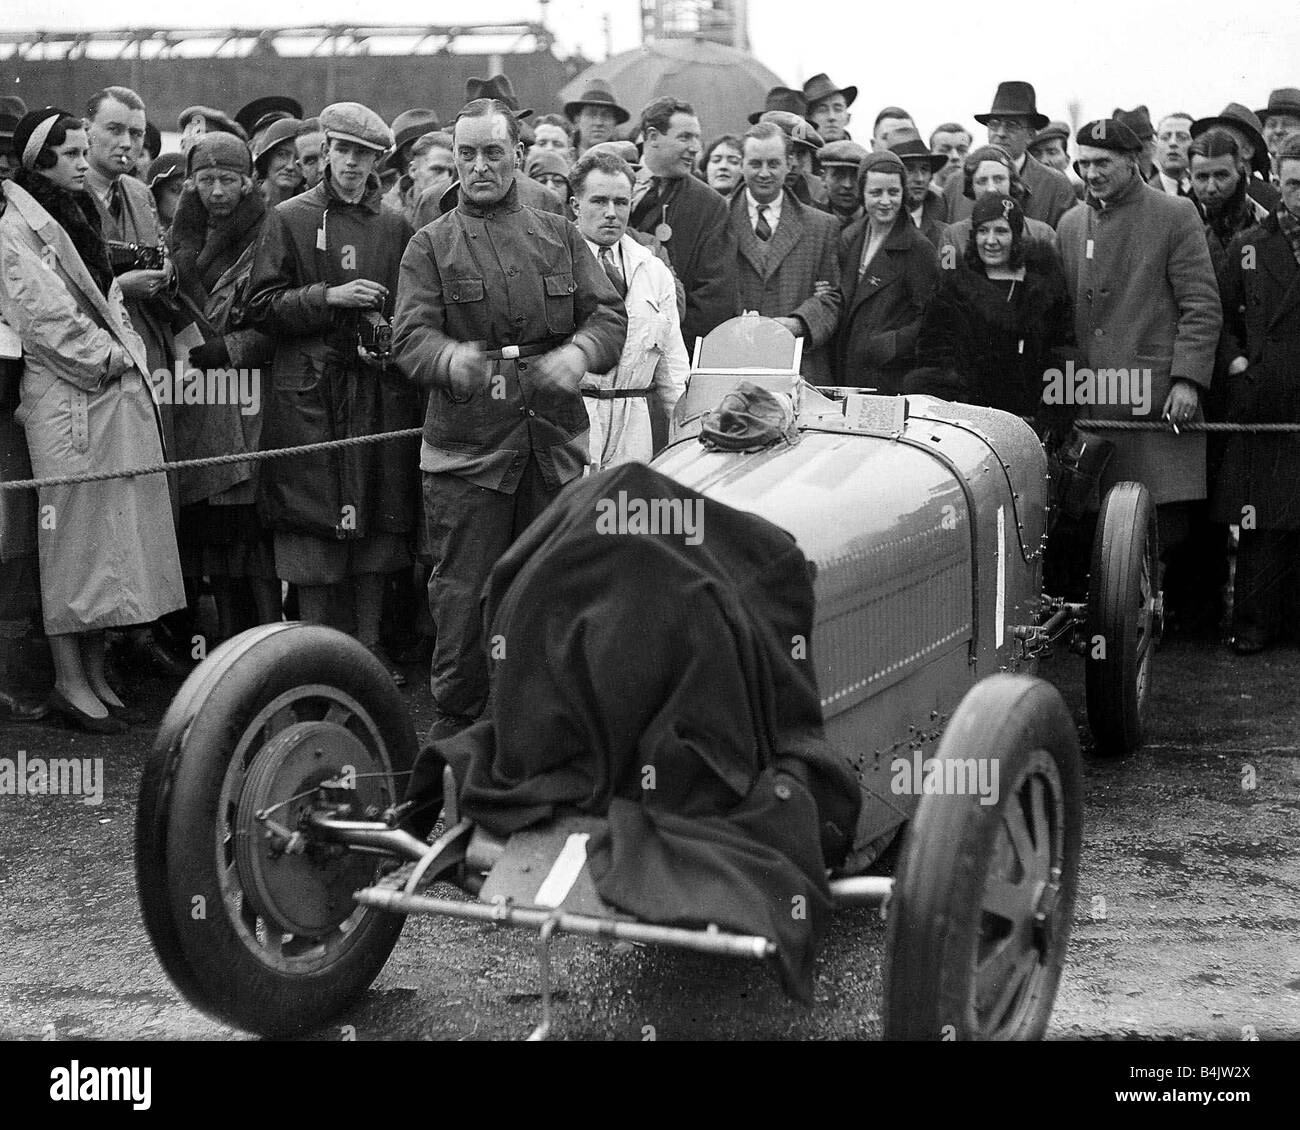
POLYGON ((144 769, 135 867, 150 938, 191 1004, 274 1036, 369 987, 403 919, 352 899, 376 858, 313 840, 303 817, 342 778, 376 818, 415 752, 391 677, 341 632, 254 628, 190 675, 144 769))

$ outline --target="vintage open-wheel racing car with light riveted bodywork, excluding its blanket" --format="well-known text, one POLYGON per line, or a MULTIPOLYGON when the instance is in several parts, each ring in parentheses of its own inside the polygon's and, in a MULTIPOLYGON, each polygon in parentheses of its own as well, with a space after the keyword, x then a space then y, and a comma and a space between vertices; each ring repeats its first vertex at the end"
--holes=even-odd
MULTIPOLYGON (((807 388, 792 341, 754 317, 715 330, 654 468, 789 532, 815 570, 826 736, 862 795, 829 891, 837 906, 888 902, 884 1035, 1037 1038, 1070 934, 1082 783, 1075 726, 1034 672, 1052 640, 1082 636, 1097 752, 1136 749, 1160 631, 1149 497, 1135 484, 1108 494, 1086 605, 1045 596, 1035 432, 987 408, 807 388), (789 395, 797 442, 699 442, 741 381, 789 395), (896 787, 900 765, 961 780, 988 762, 992 802, 896 787), (894 874, 864 874, 900 834, 894 874)), ((775 956, 767 936, 619 913, 586 874, 581 821, 493 837, 463 817, 450 771, 426 844, 400 826, 416 753, 404 698, 338 632, 256 628, 191 674, 146 766, 136 876, 152 943, 192 1004, 266 1035, 320 1026, 365 992, 413 913, 541 932, 534 1035, 550 1023, 554 932, 775 956)))

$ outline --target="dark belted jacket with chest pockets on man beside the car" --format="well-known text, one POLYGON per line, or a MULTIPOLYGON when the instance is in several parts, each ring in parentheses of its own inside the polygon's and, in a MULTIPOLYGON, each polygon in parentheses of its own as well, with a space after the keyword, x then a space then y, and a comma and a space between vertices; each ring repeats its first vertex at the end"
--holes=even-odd
POLYGON ((554 489, 590 459, 581 394, 533 385, 532 359, 495 360, 465 401, 452 398, 459 342, 573 343, 593 372, 614 368, 628 317, 623 299, 563 216, 504 198, 455 209, 421 228, 402 257, 393 348, 403 372, 429 389, 420 468, 514 494, 532 455, 554 489))

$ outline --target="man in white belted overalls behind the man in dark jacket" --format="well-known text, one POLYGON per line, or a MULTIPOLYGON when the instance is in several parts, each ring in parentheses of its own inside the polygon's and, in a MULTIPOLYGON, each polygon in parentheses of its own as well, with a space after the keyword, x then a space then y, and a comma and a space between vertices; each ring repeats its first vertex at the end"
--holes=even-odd
POLYGON ((628 311, 619 364, 582 380, 594 471, 650 462, 668 441, 672 408, 690 372, 672 270, 627 234, 633 179, 632 166, 608 152, 585 155, 569 173, 578 230, 628 311))

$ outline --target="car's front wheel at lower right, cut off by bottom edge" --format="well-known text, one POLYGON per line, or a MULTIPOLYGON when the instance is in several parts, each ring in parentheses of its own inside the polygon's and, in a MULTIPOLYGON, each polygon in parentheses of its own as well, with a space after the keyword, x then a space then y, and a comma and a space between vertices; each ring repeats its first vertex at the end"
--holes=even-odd
POLYGON ((1070 711, 1040 679, 993 675, 962 700, 935 761, 944 787, 967 788, 924 795, 904 841, 888 908, 885 1039, 1039 1039, 1079 871, 1070 711))

